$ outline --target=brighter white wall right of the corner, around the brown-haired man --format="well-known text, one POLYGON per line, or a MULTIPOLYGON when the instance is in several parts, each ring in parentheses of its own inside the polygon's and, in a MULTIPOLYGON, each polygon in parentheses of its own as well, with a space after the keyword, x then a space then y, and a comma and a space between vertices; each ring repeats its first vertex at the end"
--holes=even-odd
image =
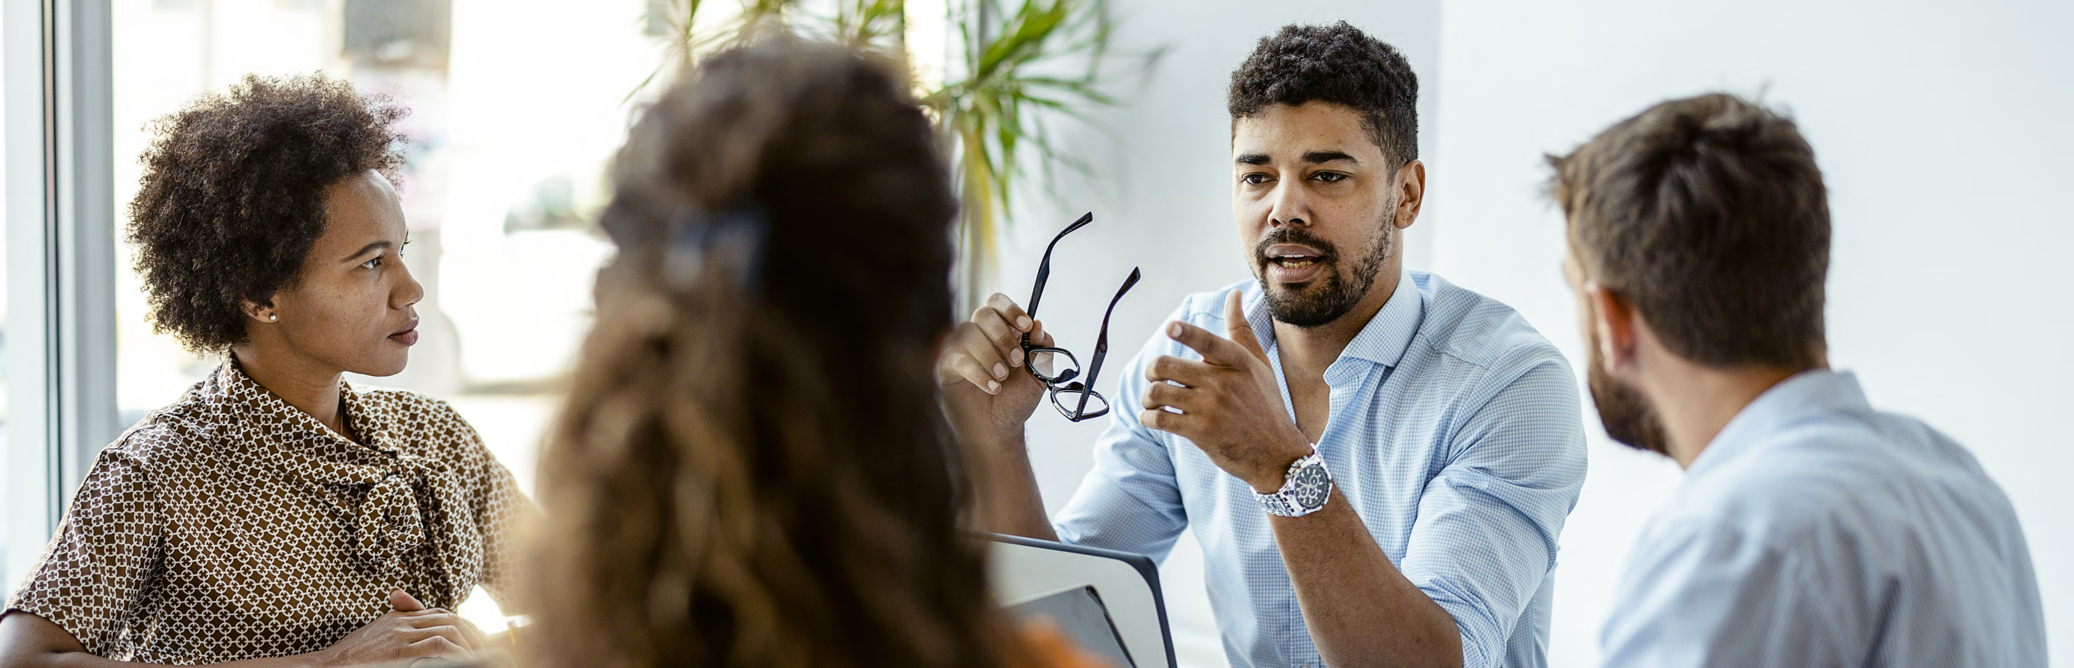
MULTIPOLYGON (((1582 359, 1541 154, 1707 89, 1788 108, 1829 183, 1831 363, 1858 371, 1877 407, 1964 442, 2003 485, 2039 568, 2053 664, 2074 666, 2068 35, 2068 2, 1450 0, 1433 266, 1582 359)), ((1555 666, 1597 660, 1628 546, 1680 479, 1603 438, 1591 458, 1564 531, 1555 666)))

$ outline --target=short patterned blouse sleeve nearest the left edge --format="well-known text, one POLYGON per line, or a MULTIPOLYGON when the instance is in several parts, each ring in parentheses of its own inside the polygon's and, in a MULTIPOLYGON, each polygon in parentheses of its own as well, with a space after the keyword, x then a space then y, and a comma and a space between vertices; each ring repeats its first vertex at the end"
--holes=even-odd
POLYGON ((102 450, 8 610, 58 624, 93 656, 131 633, 164 554, 166 514, 141 461, 102 450))

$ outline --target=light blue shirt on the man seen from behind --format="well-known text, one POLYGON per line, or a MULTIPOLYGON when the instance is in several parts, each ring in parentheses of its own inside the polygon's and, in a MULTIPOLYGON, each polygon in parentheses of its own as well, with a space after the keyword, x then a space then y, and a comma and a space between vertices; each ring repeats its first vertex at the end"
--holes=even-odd
POLYGON ((1850 373, 1794 375, 1692 461, 1634 546, 1605 664, 2043 668, 2001 488, 1850 373))

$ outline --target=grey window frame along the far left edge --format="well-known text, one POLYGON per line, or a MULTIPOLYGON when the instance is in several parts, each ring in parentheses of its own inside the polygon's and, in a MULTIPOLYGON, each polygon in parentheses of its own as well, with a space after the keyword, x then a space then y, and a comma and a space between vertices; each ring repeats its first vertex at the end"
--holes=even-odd
POLYGON ((6 440, 0 583, 12 591, 120 434, 110 0, 0 0, 6 106, 6 440))

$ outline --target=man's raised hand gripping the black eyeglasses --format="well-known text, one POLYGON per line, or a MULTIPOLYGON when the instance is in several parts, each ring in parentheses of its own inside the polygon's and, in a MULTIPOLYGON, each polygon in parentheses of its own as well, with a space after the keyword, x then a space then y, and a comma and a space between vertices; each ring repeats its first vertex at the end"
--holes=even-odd
POLYGON ((1043 322, 993 293, 944 344, 935 375, 952 409, 952 425, 966 432, 966 440, 1008 442, 1043 400, 1045 386, 1025 367, 1022 334, 1031 336, 1031 344, 1052 344, 1043 322))

